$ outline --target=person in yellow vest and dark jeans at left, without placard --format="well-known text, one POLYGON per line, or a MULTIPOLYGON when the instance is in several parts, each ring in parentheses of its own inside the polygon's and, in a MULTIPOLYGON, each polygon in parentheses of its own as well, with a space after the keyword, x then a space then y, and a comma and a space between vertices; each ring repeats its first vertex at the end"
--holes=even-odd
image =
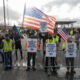
POLYGON ((13 42, 9 39, 9 35, 5 35, 5 39, 2 41, 3 51, 4 51, 4 69, 12 69, 12 49, 13 42))

